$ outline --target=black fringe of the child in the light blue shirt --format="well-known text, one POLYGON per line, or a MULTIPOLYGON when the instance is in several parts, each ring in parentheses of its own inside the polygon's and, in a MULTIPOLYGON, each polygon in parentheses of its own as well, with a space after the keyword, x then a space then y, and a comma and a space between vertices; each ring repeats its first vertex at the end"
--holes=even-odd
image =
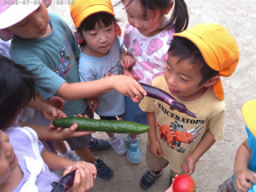
MULTIPOLYGON (((77 30, 82 37, 82 30, 94 30, 94 27, 96 25, 102 27, 101 22, 104 26, 110 26, 114 22, 116 22, 116 19, 112 14, 109 14, 106 12, 98 12, 95 14, 91 14, 89 17, 84 19, 81 23, 81 26, 79 26, 77 30)), ((82 42, 80 44, 81 47, 85 45, 86 45, 86 42, 82 42)))

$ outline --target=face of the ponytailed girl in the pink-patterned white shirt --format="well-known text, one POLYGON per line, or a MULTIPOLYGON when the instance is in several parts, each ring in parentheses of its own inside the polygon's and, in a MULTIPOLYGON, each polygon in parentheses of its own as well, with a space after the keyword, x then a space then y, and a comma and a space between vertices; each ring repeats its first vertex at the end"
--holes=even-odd
POLYGON ((165 14, 161 10, 147 9, 145 18, 140 1, 134 0, 130 3, 129 0, 125 0, 123 3, 126 7, 128 22, 131 26, 137 28, 146 37, 159 33, 158 27, 166 20, 165 14))

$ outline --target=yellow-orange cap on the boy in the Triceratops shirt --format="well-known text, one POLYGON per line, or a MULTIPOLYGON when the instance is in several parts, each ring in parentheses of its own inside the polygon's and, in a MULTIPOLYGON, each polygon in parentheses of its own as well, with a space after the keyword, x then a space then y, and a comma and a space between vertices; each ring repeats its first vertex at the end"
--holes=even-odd
MULTIPOLYGON (((239 60, 237 42, 225 27, 213 23, 203 23, 190 27, 173 36, 183 37, 194 42, 200 50, 205 62, 211 69, 218 71, 223 77, 233 74, 239 60)), ((224 99, 221 79, 214 84, 214 94, 224 99)))

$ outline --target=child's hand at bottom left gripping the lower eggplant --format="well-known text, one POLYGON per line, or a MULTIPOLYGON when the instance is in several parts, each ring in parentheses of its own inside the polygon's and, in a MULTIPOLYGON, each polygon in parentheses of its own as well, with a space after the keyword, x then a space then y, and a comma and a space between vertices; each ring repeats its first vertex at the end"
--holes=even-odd
POLYGON ((68 191, 88 191, 94 186, 94 179, 97 175, 96 167, 88 162, 78 162, 78 166, 70 166, 64 171, 64 175, 76 170, 74 184, 68 191))

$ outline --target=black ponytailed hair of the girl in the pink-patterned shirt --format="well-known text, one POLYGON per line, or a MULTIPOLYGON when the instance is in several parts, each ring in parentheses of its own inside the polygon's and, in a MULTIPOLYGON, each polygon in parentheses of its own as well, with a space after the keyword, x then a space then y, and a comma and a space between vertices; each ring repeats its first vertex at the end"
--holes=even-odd
MULTIPOLYGON (((122 3, 126 0, 122 0, 122 3)), ((128 6, 134 0, 129 0, 128 6)), ((146 10, 166 10, 171 2, 174 0, 140 0, 142 8, 144 10, 143 15, 146 18, 146 10)), ((186 2, 184 0, 175 0, 174 2, 174 11, 171 14, 170 21, 164 28, 160 28, 159 30, 170 29, 174 27, 176 33, 182 32, 182 30, 186 30, 189 24, 189 14, 187 11, 186 2)))

